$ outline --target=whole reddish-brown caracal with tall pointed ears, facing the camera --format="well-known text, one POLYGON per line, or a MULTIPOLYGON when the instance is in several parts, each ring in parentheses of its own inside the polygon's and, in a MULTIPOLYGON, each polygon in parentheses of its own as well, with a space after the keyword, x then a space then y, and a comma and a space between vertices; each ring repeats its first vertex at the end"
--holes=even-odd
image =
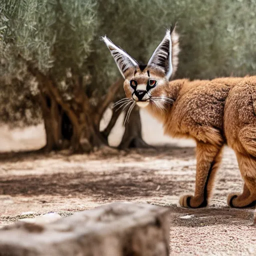
POLYGON ((125 99, 117 104, 129 114, 137 104, 163 124, 165 134, 196 141, 194 195, 180 197, 183 207, 206 206, 224 144, 235 151, 244 180, 242 193, 227 203, 248 207, 256 202, 256 76, 213 80, 169 79, 178 64, 178 35, 167 30, 147 65, 102 38, 124 77, 125 99))

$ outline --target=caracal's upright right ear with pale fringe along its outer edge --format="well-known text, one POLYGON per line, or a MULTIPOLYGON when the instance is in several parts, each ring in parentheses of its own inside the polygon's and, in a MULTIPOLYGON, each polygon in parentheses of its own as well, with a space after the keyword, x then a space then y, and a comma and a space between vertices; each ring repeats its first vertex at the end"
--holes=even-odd
POLYGON ((170 29, 167 29, 165 36, 154 50, 147 65, 160 68, 164 72, 167 80, 169 80, 177 70, 178 52, 178 34, 175 32, 174 25, 170 29))

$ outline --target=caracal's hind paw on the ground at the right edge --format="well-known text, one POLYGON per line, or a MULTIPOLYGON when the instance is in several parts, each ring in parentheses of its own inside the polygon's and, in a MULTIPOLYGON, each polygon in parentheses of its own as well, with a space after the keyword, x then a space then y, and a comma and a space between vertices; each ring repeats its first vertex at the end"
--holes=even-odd
POLYGON ((234 208, 247 208, 255 206, 256 204, 256 196, 250 194, 249 196, 244 196, 239 193, 230 193, 227 196, 226 202, 228 206, 234 208))

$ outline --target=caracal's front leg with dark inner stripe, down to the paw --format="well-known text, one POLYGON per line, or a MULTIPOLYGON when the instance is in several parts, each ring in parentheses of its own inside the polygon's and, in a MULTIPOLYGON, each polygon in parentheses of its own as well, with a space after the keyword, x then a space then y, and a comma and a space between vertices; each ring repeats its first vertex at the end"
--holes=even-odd
POLYGON ((222 145, 212 145, 197 141, 196 176, 194 195, 182 195, 179 204, 182 207, 198 208, 207 206, 214 183, 214 176, 221 159, 222 145))

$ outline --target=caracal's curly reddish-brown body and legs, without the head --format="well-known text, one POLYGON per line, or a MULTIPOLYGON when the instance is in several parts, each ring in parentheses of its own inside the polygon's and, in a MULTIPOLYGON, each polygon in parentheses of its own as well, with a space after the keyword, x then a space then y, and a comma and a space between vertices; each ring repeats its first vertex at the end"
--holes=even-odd
MULTIPOLYGON (((181 196, 180 205, 193 208, 207 205, 225 143, 235 151, 245 182, 243 193, 228 195, 227 202, 232 207, 253 205, 256 200, 256 114, 253 107, 256 76, 211 81, 174 80, 169 82, 167 91, 174 102, 160 116, 164 132, 196 140, 195 193, 181 196)), ((147 109, 157 115, 151 105, 147 109)))

